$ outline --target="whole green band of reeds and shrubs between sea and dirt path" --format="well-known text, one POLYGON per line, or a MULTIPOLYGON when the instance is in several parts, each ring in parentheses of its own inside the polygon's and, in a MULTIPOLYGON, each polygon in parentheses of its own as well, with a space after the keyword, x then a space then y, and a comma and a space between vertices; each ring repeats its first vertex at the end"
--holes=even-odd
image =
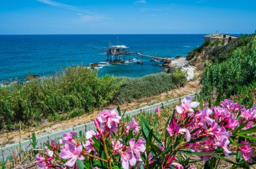
POLYGON ((67 68, 52 78, 0 87, 0 130, 21 124, 37 125, 89 113, 109 103, 123 103, 156 95, 184 84, 185 75, 153 74, 142 78, 97 76, 83 67, 67 68))

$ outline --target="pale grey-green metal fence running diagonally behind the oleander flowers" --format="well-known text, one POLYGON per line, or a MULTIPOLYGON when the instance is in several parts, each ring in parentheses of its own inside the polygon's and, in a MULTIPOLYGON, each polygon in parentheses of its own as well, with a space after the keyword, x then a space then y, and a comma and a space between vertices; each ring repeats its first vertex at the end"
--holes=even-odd
MULTIPOLYGON (((193 99, 196 99, 197 97, 197 93, 193 93, 191 95, 187 95, 192 97, 193 99)), ((125 113, 125 115, 123 115, 123 117, 133 117, 135 115, 138 115, 139 113, 156 113, 156 107, 170 107, 172 105, 176 105, 177 103, 179 103, 184 97, 179 97, 176 99, 172 99, 170 101, 164 101, 162 103, 157 103, 155 105, 151 105, 151 106, 146 106, 143 107, 141 109, 135 109, 133 111, 128 111, 125 113)), ((82 131, 82 133, 86 133, 86 131, 92 129, 95 130, 95 126, 94 126, 94 122, 90 122, 90 123, 86 123, 84 125, 77 125, 75 127, 69 128, 69 129, 64 129, 62 131, 57 131, 55 133, 51 133, 49 135, 43 135, 40 137, 36 137, 36 141, 38 142, 37 146, 38 148, 43 148, 44 144, 49 143, 53 140, 57 141, 59 140, 63 133, 65 132, 69 132, 71 129, 79 132, 82 131)), ((20 144, 12 144, 10 146, 5 146, 3 148, 0 148, 0 162, 3 160, 6 160, 8 156, 18 156, 20 154, 20 152, 28 152, 29 150, 31 150, 32 147, 30 146, 30 140, 27 140, 25 142, 21 142, 20 144)))

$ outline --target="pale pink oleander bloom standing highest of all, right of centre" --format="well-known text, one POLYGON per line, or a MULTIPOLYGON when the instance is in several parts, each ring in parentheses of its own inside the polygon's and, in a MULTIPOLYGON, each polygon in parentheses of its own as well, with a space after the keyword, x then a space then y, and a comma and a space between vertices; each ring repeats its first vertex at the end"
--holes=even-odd
POLYGON ((199 105, 198 102, 193 101, 192 102, 192 97, 185 97, 182 101, 181 101, 181 105, 177 106, 175 108, 175 111, 179 114, 182 114, 184 112, 194 112, 192 108, 196 108, 199 105))

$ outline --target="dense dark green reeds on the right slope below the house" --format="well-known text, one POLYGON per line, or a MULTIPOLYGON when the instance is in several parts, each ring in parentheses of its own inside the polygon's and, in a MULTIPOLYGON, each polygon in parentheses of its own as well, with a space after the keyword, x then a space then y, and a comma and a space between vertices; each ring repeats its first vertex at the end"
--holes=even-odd
MULTIPOLYGON (((255 35, 245 36, 238 43, 240 46, 229 52, 226 60, 205 68, 201 80, 204 85, 202 92, 205 97, 220 92, 224 93, 226 97, 230 97, 239 93, 246 95, 248 90, 253 91, 256 80, 255 35)), ((246 98, 248 96, 250 97, 247 95, 246 98)))

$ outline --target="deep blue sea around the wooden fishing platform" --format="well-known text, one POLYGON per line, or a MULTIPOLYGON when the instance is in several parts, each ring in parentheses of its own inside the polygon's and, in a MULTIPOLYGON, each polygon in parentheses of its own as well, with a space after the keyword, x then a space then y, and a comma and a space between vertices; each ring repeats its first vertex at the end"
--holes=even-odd
MULTIPOLYGON (((0 82, 24 80, 30 74, 51 76, 67 66, 89 66, 106 61, 109 44, 125 45, 130 52, 174 58, 203 43, 201 34, 182 35, 9 35, 0 36, 0 82)), ((145 60, 144 60, 145 61, 145 60)), ((103 66, 99 76, 144 76, 163 68, 146 61, 103 66)))

